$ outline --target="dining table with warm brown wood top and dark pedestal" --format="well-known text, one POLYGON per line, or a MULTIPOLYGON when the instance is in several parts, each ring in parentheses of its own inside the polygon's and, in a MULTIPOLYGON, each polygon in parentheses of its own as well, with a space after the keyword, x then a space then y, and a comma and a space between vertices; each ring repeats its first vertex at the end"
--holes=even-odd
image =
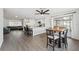
POLYGON ((61 48, 61 33, 65 31, 65 28, 63 28, 63 27, 54 27, 54 28, 49 28, 49 30, 52 30, 54 32, 59 33, 58 48, 61 48))

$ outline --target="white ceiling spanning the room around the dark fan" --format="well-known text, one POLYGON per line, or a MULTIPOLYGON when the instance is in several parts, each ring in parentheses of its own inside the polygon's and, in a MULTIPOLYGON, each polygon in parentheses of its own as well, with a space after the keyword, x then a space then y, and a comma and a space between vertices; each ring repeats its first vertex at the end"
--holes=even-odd
POLYGON ((35 15, 36 11, 39 8, 4 8, 4 18, 7 19, 24 19, 24 18, 32 18, 32 19, 39 19, 39 18, 46 18, 55 15, 59 15, 62 13, 70 12, 75 10, 75 8, 47 8, 49 9, 49 15, 41 16, 35 15), (17 18, 15 16, 18 16, 17 18))

